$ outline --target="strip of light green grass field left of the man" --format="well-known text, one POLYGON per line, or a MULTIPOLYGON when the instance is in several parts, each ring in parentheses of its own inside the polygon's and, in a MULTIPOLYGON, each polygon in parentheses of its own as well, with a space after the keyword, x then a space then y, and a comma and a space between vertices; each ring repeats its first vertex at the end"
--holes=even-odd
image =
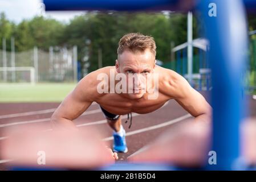
POLYGON ((60 102, 74 83, 0 84, 0 102, 60 102))

